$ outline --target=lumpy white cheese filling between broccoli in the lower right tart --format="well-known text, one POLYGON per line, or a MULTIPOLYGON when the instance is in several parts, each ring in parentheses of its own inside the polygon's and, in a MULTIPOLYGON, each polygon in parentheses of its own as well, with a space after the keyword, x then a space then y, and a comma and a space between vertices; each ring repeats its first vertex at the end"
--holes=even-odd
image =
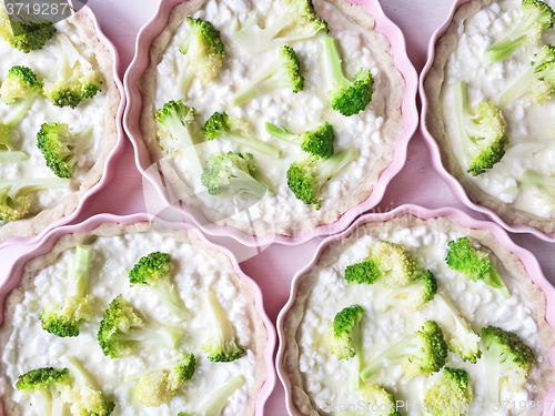
MULTIPOLYGON (((304 316, 299 326, 296 341, 299 344, 299 366, 305 392, 311 397, 315 409, 322 415, 341 415, 345 408, 342 405, 364 403, 360 390, 354 390, 352 384, 356 374, 356 359, 337 359, 326 346, 326 331, 335 314, 342 308, 357 304, 365 311, 361 321, 363 336, 364 361, 370 363, 387 347, 400 343, 406 335, 421 329, 428 319, 441 321, 440 305, 431 301, 418 312, 390 308, 384 313, 375 312, 375 305, 384 298, 387 290, 381 284, 374 285, 347 283, 344 278, 345 267, 364 261, 369 256, 369 247, 376 241, 391 241, 403 244, 414 257, 425 258, 425 267, 437 280, 438 293, 448 296, 458 308, 461 315, 480 334, 482 327, 493 325, 505 331, 512 331, 521 336, 536 353, 537 359, 539 339, 537 325, 533 318, 532 305, 522 293, 519 284, 513 280, 501 264, 494 263, 502 275, 511 297, 505 300, 498 290, 487 286, 482 281, 467 281, 460 273, 452 271, 445 264, 447 242, 462 235, 442 233, 427 226, 417 226, 381 235, 363 235, 352 245, 335 245, 331 255, 337 258, 329 266, 316 265, 310 276, 317 276, 305 304, 304 316)), ((495 258, 496 260, 496 258, 495 258)), ((485 413, 480 409, 485 404, 486 385, 484 359, 476 364, 463 362, 457 354, 448 353, 447 366, 463 368, 468 373, 474 402, 472 415, 506 415, 507 413, 485 413)), ((401 365, 391 366, 372 377, 371 382, 390 389, 396 400, 403 403, 400 407, 403 415, 421 415, 424 406, 424 390, 432 385, 438 375, 407 379, 401 365), (411 404, 411 406, 408 406, 411 404), (420 407, 418 407, 420 406, 420 407)), ((526 400, 528 393, 535 390, 538 372, 533 369, 525 388, 517 394, 502 393, 504 400, 515 402, 518 408, 521 400, 526 400)), ((543 399, 543 398, 537 398, 543 399)), ((491 407, 490 407, 491 408, 491 407)), ((424 413, 425 414, 425 413, 424 413)))

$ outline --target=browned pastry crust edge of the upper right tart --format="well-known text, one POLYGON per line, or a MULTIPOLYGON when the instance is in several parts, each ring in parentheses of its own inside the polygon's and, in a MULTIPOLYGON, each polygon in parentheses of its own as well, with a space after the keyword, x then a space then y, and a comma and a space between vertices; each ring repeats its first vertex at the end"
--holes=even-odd
POLYGON ((462 4, 455 12, 453 21, 448 26, 445 33, 437 40, 437 43, 435 44, 434 63, 424 80, 424 90, 428 102, 426 128, 432 136, 437 141, 444 168, 463 185, 472 202, 492 210, 509 225, 529 225, 543 233, 554 233, 555 220, 543 219, 529 212, 516 210, 500 199, 482 191, 458 163, 447 138, 441 101, 445 65, 457 45, 460 39, 460 24, 465 19, 476 14, 480 10, 490 4, 491 1, 484 0, 472 0, 462 4))

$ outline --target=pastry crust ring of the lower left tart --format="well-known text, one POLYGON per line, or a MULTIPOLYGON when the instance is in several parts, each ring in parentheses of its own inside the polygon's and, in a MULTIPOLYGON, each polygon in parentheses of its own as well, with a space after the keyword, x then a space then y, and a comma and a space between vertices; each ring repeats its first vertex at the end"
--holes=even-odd
MULTIPOLYGON (((251 345, 246 346, 251 349, 256 358, 256 366, 254 369, 255 379, 251 390, 249 392, 249 400, 245 405, 245 408, 238 416, 252 416, 254 415, 254 409, 256 405, 256 396, 268 378, 268 369, 264 361, 264 352, 268 343, 268 331, 259 316, 255 307, 255 295, 253 285, 246 280, 240 277, 234 271, 233 265, 230 258, 208 246, 194 234, 191 232, 182 231, 182 232, 173 232, 165 231, 160 232, 159 229, 157 231, 151 229, 151 224, 148 222, 125 225, 125 224, 102 224, 99 227, 85 232, 85 233, 77 233, 69 234, 60 239, 58 243, 56 243, 52 251, 48 254, 38 256, 31 261, 29 261, 24 265, 24 272, 20 285, 12 291, 12 293, 6 298, 3 306, 3 325, 0 326, 0 356, 4 354, 3 346, 7 345, 8 339, 10 338, 13 331, 17 328, 12 325, 12 319, 10 317, 13 316, 16 312, 16 307, 18 304, 22 302, 24 298, 26 291, 31 290, 34 286, 34 277, 37 274, 53 264, 57 258, 61 255, 62 252, 67 250, 73 248, 77 244, 90 244, 97 237, 110 237, 118 236, 122 234, 132 234, 132 233, 147 233, 147 232, 157 232, 161 235, 164 235, 168 239, 174 239, 184 244, 192 245, 198 251, 203 251, 210 255, 210 257, 216 260, 222 265, 224 265, 229 271, 232 272, 234 277, 234 283, 239 287, 239 292, 242 296, 245 297, 248 304, 250 305, 250 321, 253 326, 254 337, 251 341, 251 345), (8 317, 8 318, 7 318, 8 317)), ((1 315, 0 315, 1 316, 1 315)), ((3 362, 0 361, 0 373, 3 372, 3 362)), ((20 416, 21 406, 12 400, 13 396, 13 386, 8 383, 8 379, 4 378, 4 383, 0 384, 0 404, 3 403, 6 416, 20 416)))

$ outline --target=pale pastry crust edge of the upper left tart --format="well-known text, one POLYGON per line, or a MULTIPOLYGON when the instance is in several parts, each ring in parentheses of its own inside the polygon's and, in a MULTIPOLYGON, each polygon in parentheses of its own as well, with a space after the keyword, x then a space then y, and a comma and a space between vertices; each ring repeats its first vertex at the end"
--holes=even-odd
POLYGON ((99 41, 92 20, 84 13, 75 13, 68 19, 68 22, 73 24, 81 40, 87 47, 94 51, 99 69, 102 72, 103 83, 102 89, 107 89, 107 98, 104 102, 104 136, 100 154, 94 162, 94 165, 87 173, 79 190, 68 194, 56 205, 41 211, 33 217, 12 221, 0 226, 0 242, 8 239, 20 236, 33 236, 44 230, 51 222, 71 214, 75 211, 83 195, 92 186, 94 186, 102 177, 104 163, 118 142, 117 115, 121 102, 120 91, 114 80, 114 61, 113 57, 104 45, 99 41))

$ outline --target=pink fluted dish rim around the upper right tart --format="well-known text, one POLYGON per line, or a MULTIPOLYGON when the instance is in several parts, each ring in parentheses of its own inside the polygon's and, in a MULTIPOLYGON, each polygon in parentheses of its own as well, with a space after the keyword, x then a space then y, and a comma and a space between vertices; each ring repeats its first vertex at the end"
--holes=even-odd
MULTIPOLYGON (((461 203, 468 206, 471 210, 481 212, 490 216, 497 224, 502 225, 505 230, 511 231, 513 233, 531 233, 541 240, 547 242, 555 242, 555 233, 544 233, 539 230, 536 230, 525 224, 524 221, 521 223, 516 223, 516 222, 511 222, 508 217, 506 217, 505 220, 505 215, 503 214, 500 215, 500 213, 494 211, 493 206, 491 206, 491 204, 487 203, 487 200, 492 200, 493 197, 477 190, 477 187, 473 183, 470 183, 471 181, 468 181, 467 186, 472 191, 468 192, 467 190, 465 190, 465 186, 463 186, 463 184, 450 172, 453 169, 457 170, 460 169, 457 162, 455 160, 452 160, 452 158, 450 158, 450 155, 447 155, 447 153, 440 146, 436 139, 433 136, 433 134, 430 132, 427 128, 428 122, 432 122, 432 120, 437 119, 437 114, 433 114, 428 111, 430 100, 427 98, 427 91, 430 91, 431 88, 431 85, 427 83, 428 75, 431 74, 431 72, 437 71, 437 69, 433 68, 436 55, 436 43, 450 28, 458 8, 464 3, 468 3, 471 0, 456 0, 453 3, 453 7, 451 8, 450 14, 445 20, 445 22, 442 26, 440 26, 440 28, 437 28, 437 30, 435 30, 434 33, 432 34, 427 48, 426 64, 422 70, 420 78, 420 97, 422 100, 421 130, 422 134, 424 135, 424 142, 426 143, 426 146, 428 149, 430 158, 432 159, 432 168, 445 181, 453 195, 461 203), (450 164, 453 168, 450 169, 448 168, 450 164)), ((477 1, 477 3, 480 3, 480 1, 477 1)), ((506 211, 509 211, 512 213, 518 212, 512 209, 506 211)), ((555 223, 555 220, 552 220, 552 222, 555 223)))

